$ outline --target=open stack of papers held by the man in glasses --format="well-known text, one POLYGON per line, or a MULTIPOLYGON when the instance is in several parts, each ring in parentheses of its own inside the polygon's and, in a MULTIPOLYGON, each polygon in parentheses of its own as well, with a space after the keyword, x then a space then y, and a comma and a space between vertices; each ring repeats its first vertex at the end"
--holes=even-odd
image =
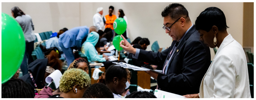
POLYGON ((115 66, 124 67, 126 69, 133 69, 133 70, 138 70, 138 71, 148 71, 149 70, 149 71, 153 71, 155 73, 161 74, 161 75, 166 75, 166 74, 162 74, 162 73, 159 73, 159 72, 151 70, 151 69, 147 69, 145 67, 133 66, 133 65, 130 65, 130 64, 127 64, 127 63, 123 63, 123 62, 120 62, 120 63, 112 62, 112 63, 117 64, 115 66))

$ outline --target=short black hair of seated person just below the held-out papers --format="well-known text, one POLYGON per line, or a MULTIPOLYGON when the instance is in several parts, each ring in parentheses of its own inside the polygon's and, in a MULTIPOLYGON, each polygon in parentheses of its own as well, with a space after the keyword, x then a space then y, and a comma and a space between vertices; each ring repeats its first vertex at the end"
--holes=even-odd
POLYGON ((106 71, 106 84, 113 82, 114 77, 117 77, 119 80, 127 78, 126 70, 123 67, 114 65, 116 64, 113 64, 110 67, 108 67, 106 71))

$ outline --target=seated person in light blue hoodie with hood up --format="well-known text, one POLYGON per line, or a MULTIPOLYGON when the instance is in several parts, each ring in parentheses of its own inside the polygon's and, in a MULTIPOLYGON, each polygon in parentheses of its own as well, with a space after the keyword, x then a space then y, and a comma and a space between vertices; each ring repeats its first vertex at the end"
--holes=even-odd
POLYGON ((81 52, 87 57, 89 62, 105 62, 108 60, 108 56, 104 54, 98 55, 98 52, 94 47, 97 44, 98 39, 99 34, 95 31, 92 31, 88 34, 86 41, 82 44, 81 52), (105 57, 105 59, 103 57, 105 57))

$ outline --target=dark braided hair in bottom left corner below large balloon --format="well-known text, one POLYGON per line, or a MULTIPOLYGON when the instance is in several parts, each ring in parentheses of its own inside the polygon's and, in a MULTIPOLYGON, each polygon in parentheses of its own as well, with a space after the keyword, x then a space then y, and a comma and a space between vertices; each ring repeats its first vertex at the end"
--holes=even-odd
POLYGON ((2 98, 34 98, 29 84, 21 79, 11 79, 2 84, 2 98))

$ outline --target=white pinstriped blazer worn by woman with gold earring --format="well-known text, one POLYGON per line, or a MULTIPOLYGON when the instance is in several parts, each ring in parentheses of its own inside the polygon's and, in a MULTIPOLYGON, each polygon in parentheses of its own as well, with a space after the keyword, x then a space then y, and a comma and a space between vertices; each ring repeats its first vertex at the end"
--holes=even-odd
POLYGON ((200 98, 252 98, 243 47, 229 34, 200 86, 200 98))

